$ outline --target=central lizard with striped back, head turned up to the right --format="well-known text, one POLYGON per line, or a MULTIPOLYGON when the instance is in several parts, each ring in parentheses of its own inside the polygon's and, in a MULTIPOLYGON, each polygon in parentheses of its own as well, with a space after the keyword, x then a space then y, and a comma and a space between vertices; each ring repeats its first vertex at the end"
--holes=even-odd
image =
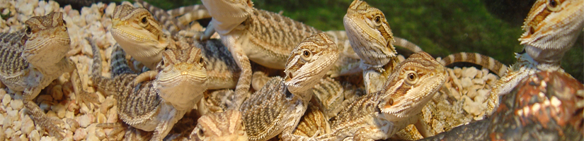
POLYGON ((290 54, 286 77, 275 77, 241 105, 249 140, 290 138, 312 97, 311 88, 338 59, 336 44, 323 33, 298 44, 290 54))

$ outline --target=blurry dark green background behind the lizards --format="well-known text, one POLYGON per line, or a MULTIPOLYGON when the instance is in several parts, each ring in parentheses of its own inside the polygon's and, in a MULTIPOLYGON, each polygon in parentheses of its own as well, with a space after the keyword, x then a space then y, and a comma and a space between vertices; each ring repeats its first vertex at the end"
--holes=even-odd
MULTIPOLYGON (((164 9, 201 1, 146 0, 164 9)), ((343 16, 353 0, 253 0, 256 8, 282 11, 284 16, 302 21, 319 30, 344 30, 343 16)), ((384 12, 397 37, 418 44, 433 56, 460 51, 478 52, 505 64, 515 62, 513 52, 522 50, 517 39, 522 22, 534 0, 369 0, 384 12)), ((566 72, 584 80, 583 36, 563 57, 566 72)))

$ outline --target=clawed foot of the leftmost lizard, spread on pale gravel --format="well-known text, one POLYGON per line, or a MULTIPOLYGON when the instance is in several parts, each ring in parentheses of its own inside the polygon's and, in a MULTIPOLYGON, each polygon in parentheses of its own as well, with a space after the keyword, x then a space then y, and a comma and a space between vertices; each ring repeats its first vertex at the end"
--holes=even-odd
POLYGON ((26 101, 25 107, 30 114, 30 118, 35 121, 36 125, 40 125, 43 129, 47 130, 49 135, 57 137, 57 140, 64 139, 65 132, 57 126, 57 124, 64 125, 64 121, 61 121, 58 118, 48 117, 34 102, 26 101))

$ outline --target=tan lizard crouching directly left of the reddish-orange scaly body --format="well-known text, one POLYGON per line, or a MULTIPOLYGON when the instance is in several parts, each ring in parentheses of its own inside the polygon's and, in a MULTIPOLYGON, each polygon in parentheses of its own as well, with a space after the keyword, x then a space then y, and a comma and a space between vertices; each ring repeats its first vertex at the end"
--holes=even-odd
POLYGON ((445 67, 430 54, 412 54, 396 66, 381 91, 359 97, 341 110, 331 119, 332 133, 316 140, 387 139, 418 121, 423 106, 446 79, 445 67))

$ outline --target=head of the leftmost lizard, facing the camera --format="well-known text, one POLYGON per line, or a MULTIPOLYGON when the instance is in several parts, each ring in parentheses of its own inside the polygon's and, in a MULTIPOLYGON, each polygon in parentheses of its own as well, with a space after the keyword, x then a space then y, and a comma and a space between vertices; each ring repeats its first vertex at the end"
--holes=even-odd
POLYGON ((23 56, 35 65, 53 65, 70 49, 71 39, 63 13, 52 12, 46 16, 35 16, 25 21, 25 44, 23 56), (39 64, 38 64, 39 63, 39 64))

